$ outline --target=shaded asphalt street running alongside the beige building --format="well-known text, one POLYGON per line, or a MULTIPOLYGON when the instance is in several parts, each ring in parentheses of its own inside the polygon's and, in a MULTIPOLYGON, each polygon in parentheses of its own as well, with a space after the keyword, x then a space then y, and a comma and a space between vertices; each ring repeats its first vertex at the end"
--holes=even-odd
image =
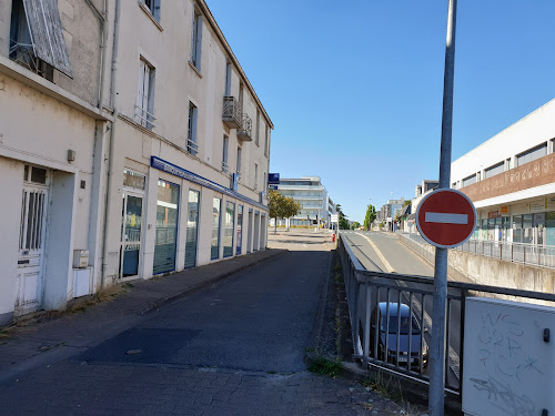
POLYGON ((330 252, 302 233, 274 240, 292 251, 1 384, 0 414, 398 414, 355 383, 306 372, 330 252))

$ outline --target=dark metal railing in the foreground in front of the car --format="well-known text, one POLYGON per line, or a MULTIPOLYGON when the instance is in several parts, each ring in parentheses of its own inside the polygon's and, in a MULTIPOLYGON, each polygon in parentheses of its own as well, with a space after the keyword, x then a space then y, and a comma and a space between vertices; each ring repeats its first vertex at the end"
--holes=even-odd
MULTIPOLYGON (((424 384, 427 344, 433 332, 434 280, 365 270, 340 235, 337 252, 345 281, 354 357, 369 366, 424 384), (401 319, 397 319, 401 316, 401 319), (403 323, 403 318, 408 321, 403 323)), ((504 296, 519 302, 555 306, 555 294, 448 282, 445 389, 461 395, 464 357, 464 311, 472 296, 504 296)))

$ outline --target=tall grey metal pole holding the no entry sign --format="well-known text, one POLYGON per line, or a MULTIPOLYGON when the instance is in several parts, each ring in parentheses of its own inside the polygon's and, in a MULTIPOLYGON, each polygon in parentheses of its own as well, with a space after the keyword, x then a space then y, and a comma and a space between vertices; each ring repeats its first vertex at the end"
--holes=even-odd
MULTIPOLYGON (((445 74, 443 80, 442 145, 440 189, 451 185, 451 142, 453 132, 453 84, 455 78, 456 0, 448 0, 445 74)), ((430 416, 443 416, 445 389, 445 327, 447 325, 447 248, 435 248, 434 308, 430 348, 430 416)))

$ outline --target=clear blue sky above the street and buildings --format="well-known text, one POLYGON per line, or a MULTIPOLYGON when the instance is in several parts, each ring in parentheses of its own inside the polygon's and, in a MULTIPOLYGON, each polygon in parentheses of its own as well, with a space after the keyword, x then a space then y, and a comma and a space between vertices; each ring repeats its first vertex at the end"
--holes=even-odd
MULTIPOLYGON (((321 176, 361 223, 438 179, 447 0, 206 2, 274 124, 270 172, 321 176)), ((458 2, 453 161, 555 98, 553 16, 458 2)))

